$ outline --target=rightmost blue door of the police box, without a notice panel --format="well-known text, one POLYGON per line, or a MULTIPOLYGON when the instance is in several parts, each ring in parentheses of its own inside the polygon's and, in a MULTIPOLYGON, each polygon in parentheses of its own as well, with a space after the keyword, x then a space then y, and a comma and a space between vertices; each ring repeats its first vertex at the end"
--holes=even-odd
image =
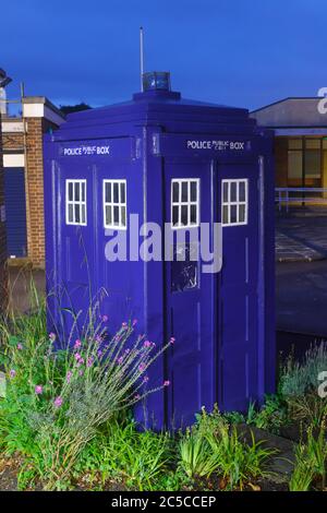
POLYGON ((226 410, 244 410, 257 392, 258 169, 217 166, 222 223, 218 290, 218 397, 226 410))

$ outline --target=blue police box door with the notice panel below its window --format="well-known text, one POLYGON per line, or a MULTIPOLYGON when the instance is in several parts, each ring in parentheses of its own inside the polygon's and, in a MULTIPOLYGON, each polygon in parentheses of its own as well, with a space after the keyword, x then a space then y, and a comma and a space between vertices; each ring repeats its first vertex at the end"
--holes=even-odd
MULTIPOLYGON (((166 355, 167 414, 172 427, 194 421, 202 406, 214 405, 213 275, 197 254, 201 223, 211 223, 213 166, 196 159, 165 159, 166 323, 175 342, 166 355), (184 240, 183 240, 184 239, 184 240), (180 259, 180 260, 179 260, 180 259)), ((199 248, 198 248, 199 250, 199 248)))

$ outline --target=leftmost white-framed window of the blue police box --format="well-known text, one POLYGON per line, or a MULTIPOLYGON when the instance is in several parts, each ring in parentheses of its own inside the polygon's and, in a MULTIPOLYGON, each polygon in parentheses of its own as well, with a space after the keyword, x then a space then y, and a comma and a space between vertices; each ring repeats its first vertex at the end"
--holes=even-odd
POLYGON ((86 226, 86 180, 65 180, 65 223, 86 226))

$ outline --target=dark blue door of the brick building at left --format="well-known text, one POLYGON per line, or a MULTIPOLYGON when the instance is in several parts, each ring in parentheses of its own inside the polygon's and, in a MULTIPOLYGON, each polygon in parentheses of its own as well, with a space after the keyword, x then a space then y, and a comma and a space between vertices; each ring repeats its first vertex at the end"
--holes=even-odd
POLYGON ((26 256, 26 200, 24 168, 4 169, 8 255, 26 256))

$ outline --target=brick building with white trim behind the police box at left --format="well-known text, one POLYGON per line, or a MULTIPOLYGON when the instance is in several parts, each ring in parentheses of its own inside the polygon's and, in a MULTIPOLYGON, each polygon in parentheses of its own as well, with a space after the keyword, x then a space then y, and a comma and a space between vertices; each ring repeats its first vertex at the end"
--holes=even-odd
POLYGON ((9 259, 45 265, 43 135, 64 121, 43 96, 22 99, 22 117, 2 116, 9 259))

